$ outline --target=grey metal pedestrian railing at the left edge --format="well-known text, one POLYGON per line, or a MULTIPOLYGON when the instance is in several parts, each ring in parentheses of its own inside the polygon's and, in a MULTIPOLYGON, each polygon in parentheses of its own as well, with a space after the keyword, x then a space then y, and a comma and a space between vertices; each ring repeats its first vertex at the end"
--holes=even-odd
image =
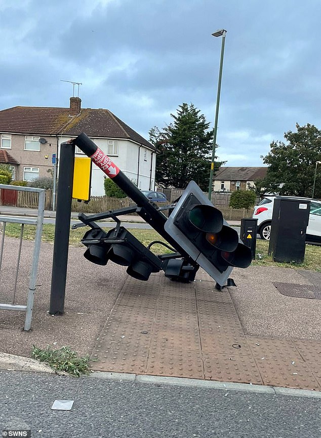
POLYGON ((19 310, 19 311, 26 312, 26 317, 25 317, 25 322, 24 322, 24 330, 28 331, 28 330, 30 330, 30 327, 31 327, 33 296, 34 296, 35 285, 36 285, 39 253, 40 253, 40 246, 41 246, 41 236, 42 236, 42 232, 43 232, 46 190, 45 189, 36 189, 36 188, 32 188, 32 187, 8 186, 8 185, 4 185, 4 184, 0 184, 0 189, 38 193, 38 215, 37 215, 37 218, 11 217, 11 216, 0 215, 0 222, 3 222, 3 235, 2 235, 2 241, 0 244, 0 273, 1 273, 1 268, 2 268, 3 256, 4 256, 6 224, 7 223, 21 224, 19 249, 18 249, 18 261, 17 261, 17 267, 16 267, 16 271, 15 271, 12 302, 11 302, 11 304, 0 303, 0 310, 19 310), (30 275, 29 275, 27 304, 20 305, 20 304, 15 304, 15 298, 16 298, 17 282, 18 282, 18 276, 19 276, 19 265, 20 265, 20 258, 21 258, 23 231, 24 231, 25 224, 35 225, 36 232, 35 232, 35 239, 34 239, 34 246, 33 246, 33 256, 32 256, 32 262, 31 262, 31 269, 30 269, 30 275))

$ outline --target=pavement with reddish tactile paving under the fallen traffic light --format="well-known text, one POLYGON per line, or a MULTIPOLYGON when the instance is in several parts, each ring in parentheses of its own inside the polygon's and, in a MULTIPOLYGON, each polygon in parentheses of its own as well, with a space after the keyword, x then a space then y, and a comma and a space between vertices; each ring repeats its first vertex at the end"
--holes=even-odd
MULTIPOLYGON (((132 216, 131 216, 132 217, 132 216)), ((25 303, 32 242, 23 241, 16 302, 25 303)), ((12 298, 18 240, 5 239, 2 302, 12 298)), ((234 269, 237 287, 215 289, 200 269, 193 283, 89 263, 69 249, 65 314, 48 314, 53 245, 42 244, 32 330, 24 314, 0 312, 4 352, 68 345, 98 359, 95 370, 321 390, 321 300, 290 297, 277 285, 320 288, 321 273, 251 266, 234 269)))

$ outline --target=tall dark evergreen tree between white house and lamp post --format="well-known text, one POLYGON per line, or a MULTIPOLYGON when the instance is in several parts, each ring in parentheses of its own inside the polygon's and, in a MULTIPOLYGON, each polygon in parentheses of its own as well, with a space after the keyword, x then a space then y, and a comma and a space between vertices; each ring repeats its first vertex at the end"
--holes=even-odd
MULTIPOLYGON (((155 179, 163 187, 185 189, 190 180, 208 191, 213 130, 203 114, 191 103, 182 103, 174 122, 149 131, 149 139, 159 150, 155 179)), ((216 166, 215 166, 216 167, 216 166)))

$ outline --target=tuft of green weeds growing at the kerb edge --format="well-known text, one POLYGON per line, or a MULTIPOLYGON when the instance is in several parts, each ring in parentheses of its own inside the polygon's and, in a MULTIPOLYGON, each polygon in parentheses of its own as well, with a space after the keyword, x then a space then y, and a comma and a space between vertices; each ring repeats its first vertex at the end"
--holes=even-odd
POLYGON ((69 347, 54 350, 33 345, 31 356, 40 362, 48 363, 57 372, 62 371, 74 377, 89 373, 89 355, 79 357, 69 347))

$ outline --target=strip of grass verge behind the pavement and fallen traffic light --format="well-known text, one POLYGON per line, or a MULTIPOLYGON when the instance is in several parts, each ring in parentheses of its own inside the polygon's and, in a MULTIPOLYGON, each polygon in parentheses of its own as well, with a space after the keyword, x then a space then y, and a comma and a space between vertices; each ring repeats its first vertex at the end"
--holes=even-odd
MULTIPOLYGON (((83 246, 81 243, 81 238, 84 236, 85 232, 89 227, 81 227, 75 230, 70 230, 69 245, 71 246, 83 246)), ((108 230, 108 229, 107 229, 108 230)), ((153 240, 160 240, 166 242, 166 240, 160 236, 154 230, 143 230, 140 228, 132 228, 129 230, 143 245, 147 246, 153 240)), ((20 224, 10 224, 6 226, 6 235, 11 237, 20 236, 20 224)), ((35 236, 35 226, 25 225, 23 238, 27 240, 34 240, 35 236)), ((45 224, 43 226, 43 242, 53 243, 55 237, 55 226, 45 224)), ((300 265, 296 263, 277 263, 273 262, 270 255, 268 255, 268 245, 269 242, 266 240, 257 240, 256 244, 256 260, 252 261, 253 266, 280 266, 280 267, 290 267, 290 268, 303 268, 314 271, 321 271, 321 246, 316 245, 306 245, 305 246, 305 258, 304 262, 300 265), (260 258, 258 255, 260 254, 260 258)), ((155 244, 151 248, 154 254, 165 254, 170 252, 163 245, 155 244)))

